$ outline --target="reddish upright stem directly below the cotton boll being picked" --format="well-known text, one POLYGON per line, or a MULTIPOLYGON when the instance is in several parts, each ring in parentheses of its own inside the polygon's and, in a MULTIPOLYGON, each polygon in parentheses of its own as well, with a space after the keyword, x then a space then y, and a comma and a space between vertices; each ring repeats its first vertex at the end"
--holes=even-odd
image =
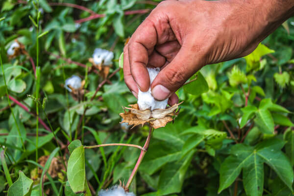
POLYGON ((146 139, 146 142, 145 142, 145 145, 144 145, 143 149, 141 149, 141 153, 140 153, 139 158, 137 160, 137 163, 136 163, 136 165, 135 165, 135 167, 133 169, 133 172, 131 173, 131 175, 130 175, 130 177, 129 177, 129 179, 128 179, 125 187, 124 187, 124 190, 125 191, 128 191, 129 190, 129 187, 130 187, 130 185, 131 185, 131 183, 132 183, 132 181, 133 181, 136 173, 138 172, 139 166, 140 166, 140 164, 141 164, 141 162, 142 162, 142 160, 143 160, 143 158, 144 158, 144 156, 145 156, 145 154, 147 152, 147 149, 149 147, 151 135, 152 135, 152 127, 151 127, 151 125, 149 125, 149 134, 148 134, 148 137, 146 139))

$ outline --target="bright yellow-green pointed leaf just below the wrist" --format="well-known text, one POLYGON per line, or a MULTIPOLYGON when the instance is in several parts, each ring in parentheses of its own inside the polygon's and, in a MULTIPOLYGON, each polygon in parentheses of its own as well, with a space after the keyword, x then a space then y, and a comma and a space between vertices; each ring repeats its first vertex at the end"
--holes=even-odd
POLYGON ((246 60, 246 71, 249 72, 250 70, 258 70, 260 66, 260 59, 263 55, 273 53, 274 50, 269 49, 263 44, 259 44, 258 47, 249 55, 245 56, 246 60))

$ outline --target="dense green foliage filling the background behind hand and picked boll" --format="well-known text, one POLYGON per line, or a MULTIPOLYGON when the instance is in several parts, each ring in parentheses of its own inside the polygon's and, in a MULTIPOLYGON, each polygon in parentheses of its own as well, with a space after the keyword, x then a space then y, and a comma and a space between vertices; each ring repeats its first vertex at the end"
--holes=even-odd
MULTIPOLYGON (((79 146, 144 144, 148 127, 119 124, 121 106, 136 99, 123 82, 118 59, 126 38, 157 3, 39 0, 38 7, 36 0, 0 1, 6 79, 1 72, 0 195, 84 195, 73 193, 80 189, 98 195, 128 179, 138 149, 79 146), (16 39, 24 49, 8 58, 16 39), (88 60, 95 48, 114 51, 106 79, 88 60), (63 87, 73 74, 85 80, 78 95, 63 87), (74 139, 81 143, 71 143, 74 139), (67 165, 70 153, 84 165, 67 165), (85 168, 72 187, 66 167, 85 168)), ((191 79, 197 79, 177 92, 184 103, 175 122, 154 131, 130 191, 144 196, 291 196, 293 46, 291 18, 252 54, 196 73, 191 79)))

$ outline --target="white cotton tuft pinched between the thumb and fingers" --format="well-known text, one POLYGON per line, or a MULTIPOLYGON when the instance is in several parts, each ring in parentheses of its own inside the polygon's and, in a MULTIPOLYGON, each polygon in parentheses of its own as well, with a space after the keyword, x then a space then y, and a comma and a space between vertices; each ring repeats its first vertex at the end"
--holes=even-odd
MULTIPOLYGON (((159 68, 147 68, 150 78, 150 84, 155 79, 156 75, 159 73, 159 68)), ((139 90, 138 93, 138 105, 140 110, 150 109, 165 109, 168 104, 168 98, 163 101, 157 101, 151 95, 151 89, 149 88, 147 92, 142 92, 139 90)))

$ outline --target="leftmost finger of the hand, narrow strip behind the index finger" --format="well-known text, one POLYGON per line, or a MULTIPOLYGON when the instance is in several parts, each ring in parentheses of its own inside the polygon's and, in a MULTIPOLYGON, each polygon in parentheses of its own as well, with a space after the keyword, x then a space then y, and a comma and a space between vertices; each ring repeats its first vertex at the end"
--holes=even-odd
POLYGON ((130 91, 132 92, 132 94, 138 98, 138 86, 137 83, 135 82, 135 80, 133 79, 133 76, 131 74, 131 70, 130 70, 130 64, 129 64, 129 60, 128 60, 128 49, 127 49, 127 45, 124 47, 123 49, 123 77, 124 77, 124 82, 126 84, 126 86, 130 89, 130 91))

